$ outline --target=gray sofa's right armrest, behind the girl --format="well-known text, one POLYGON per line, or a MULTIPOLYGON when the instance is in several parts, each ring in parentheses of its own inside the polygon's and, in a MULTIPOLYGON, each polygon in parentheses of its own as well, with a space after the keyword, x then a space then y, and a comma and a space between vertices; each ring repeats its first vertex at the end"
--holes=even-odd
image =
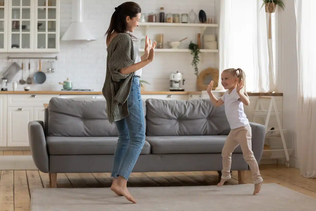
POLYGON ((264 125, 249 122, 252 132, 251 144, 252 152, 255 156, 258 164, 260 163, 261 156, 263 153, 264 139, 265 139, 265 127, 264 125))

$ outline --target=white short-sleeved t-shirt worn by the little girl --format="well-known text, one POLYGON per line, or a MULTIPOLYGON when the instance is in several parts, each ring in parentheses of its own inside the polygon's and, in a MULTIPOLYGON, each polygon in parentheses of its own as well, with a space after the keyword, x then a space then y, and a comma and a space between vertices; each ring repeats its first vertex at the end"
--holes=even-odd
POLYGON ((236 89, 229 94, 227 90, 221 97, 225 106, 225 114, 230 126, 230 129, 243 127, 249 124, 247 116, 244 112, 244 105, 238 99, 240 96, 237 94, 236 89))

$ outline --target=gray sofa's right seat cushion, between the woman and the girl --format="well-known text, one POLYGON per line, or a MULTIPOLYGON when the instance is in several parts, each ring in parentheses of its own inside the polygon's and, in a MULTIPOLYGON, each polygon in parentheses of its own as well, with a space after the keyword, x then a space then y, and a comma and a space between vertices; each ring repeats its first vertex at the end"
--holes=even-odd
MULTIPOLYGON (((222 153, 227 135, 146 136, 152 154, 222 153)), ((234 153, 242 153, 237 146, 234 153)))

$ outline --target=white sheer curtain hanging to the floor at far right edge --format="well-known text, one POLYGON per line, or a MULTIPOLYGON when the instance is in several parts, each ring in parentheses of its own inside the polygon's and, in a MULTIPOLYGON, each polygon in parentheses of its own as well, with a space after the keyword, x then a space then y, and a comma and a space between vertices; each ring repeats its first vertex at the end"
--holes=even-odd
POLYGON ((297 155, 301 174, 316 177, 315 0, 295 0, 298 61, 297 155))

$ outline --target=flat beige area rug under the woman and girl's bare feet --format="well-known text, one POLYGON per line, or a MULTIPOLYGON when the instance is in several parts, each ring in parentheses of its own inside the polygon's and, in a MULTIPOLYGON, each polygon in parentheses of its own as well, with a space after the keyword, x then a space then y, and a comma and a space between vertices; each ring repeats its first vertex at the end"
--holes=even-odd
POLYGON ((130 188, 137 204, 109 188, 45 188, 31 193, 31 211, 315 211, 316 200, 278 184, 130 188))

